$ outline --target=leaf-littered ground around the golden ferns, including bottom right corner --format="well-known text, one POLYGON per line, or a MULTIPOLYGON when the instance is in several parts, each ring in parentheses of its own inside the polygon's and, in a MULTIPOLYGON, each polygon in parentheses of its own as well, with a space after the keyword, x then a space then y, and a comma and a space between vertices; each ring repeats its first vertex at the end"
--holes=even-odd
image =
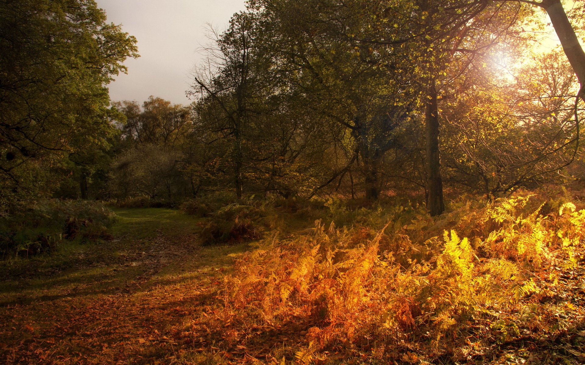
MULTIPOLYGON (((302 323, 259 333, 254 348, 229 351, 192 329, 194 318, 218 308, 215 293, 232 271, 230 254, 246 251, 247 244, 201 246, 201 220, 177 210, 115 211, 111 241, 0 263, 0 363, 295 362, 307 330, 302 323)), ((557 292, 541 300, 566 301, 580 314, 567 318, 573 323, 568 331, 491 343, 469 363, 585 363, 584 276, 581 258, 560 274, 557 292)), ((419 363, 411 360, 402 362, 419 363)), ((353 363, 363 363, 359 354, 353 363)))

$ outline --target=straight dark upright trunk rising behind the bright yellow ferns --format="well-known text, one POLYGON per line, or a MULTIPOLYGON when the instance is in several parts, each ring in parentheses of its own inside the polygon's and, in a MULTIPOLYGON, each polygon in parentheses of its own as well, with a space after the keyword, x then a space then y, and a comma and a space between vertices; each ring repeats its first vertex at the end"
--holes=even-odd
POLYGON ((426 208, 431 215, 439 215, 445 210, 443 203, 443 180, 441 179, 441 159, 439 157, 439 108, 435 79, 429 85, 425 110, 426 129, 426 208))

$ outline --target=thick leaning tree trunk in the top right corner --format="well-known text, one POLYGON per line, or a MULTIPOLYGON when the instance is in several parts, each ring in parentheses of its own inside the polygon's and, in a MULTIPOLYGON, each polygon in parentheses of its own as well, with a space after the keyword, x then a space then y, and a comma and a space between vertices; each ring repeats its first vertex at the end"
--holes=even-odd
MULTIPOLYGON (((552 26, 555 28, 557 36, 559 36, 561 46, 563 46, 563 51, 567 55, 567 60, 569 60, 573 71, 577 75, 579 84, 583 87, 585 82, 585 52, 579 44, 579 39, 569 18, 567 18, 563 4, 561 4, 560 0, 543 0, 541 6, 549 15, 550 22, 552 22, 552 26)), ((585 100, 583 93, 581 93, 581 99, 585 100)))

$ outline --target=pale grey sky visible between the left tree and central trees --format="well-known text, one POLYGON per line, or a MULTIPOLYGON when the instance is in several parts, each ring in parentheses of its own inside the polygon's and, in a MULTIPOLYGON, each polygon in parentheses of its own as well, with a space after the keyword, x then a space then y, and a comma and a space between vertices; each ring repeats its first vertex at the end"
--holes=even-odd
POLYGON ((185 91, 191 70, 209 42, 207 23, 225 29, 233 13, 245 9, 245 0, 96 0, 108 22, 122 25, 138 40, 140 58, 128 58, 128 74, 109 85, 112 101, 136 100, 150 95, 187 105, 185 91))

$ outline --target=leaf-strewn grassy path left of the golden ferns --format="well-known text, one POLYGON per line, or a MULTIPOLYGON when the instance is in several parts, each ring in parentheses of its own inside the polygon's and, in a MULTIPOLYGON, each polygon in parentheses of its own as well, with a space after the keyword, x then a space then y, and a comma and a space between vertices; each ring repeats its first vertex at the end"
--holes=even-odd
POLYGON ((246 245, 199 246, 177 210, 116 214, 111 241, 0 267, 0 363, 199 362, 183 329, 246 245))

